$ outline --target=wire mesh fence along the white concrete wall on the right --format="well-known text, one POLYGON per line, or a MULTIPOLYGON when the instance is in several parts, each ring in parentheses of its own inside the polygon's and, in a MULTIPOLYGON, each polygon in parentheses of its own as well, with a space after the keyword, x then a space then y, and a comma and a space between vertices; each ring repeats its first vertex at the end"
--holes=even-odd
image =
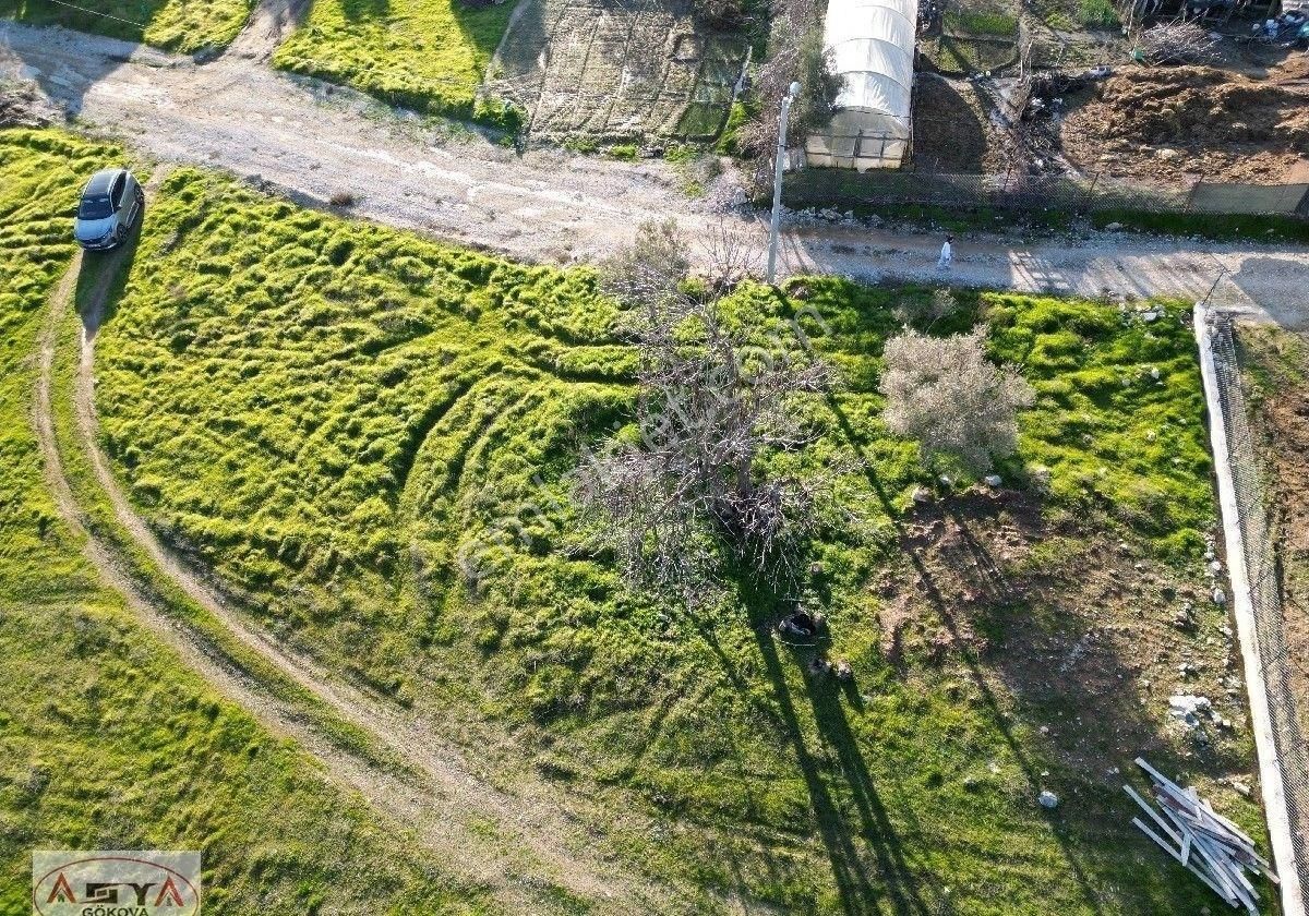
MULTIPOLYGON (((1268 692, 1272 738, 1282 769, 1291 844, 1300 886, 1309 887, 1309 747, 1305 746, 1297 711, 1296 683, 1287 646, 1282 610, 1282 580, 1276 548, 1268 530, 1263 476, 1250 432, 1241 369, 1237 361, 1232 319, 1215 318, 1211 342, 1217 374, 1219 402, 1227 427, 1228 458, 1236 491, 1237 514, 1245 543, 1245 565, 1254 607, 1259 667, 1268 692)), ((1301 684, 1304 687, 1305 684, 1301 684)))

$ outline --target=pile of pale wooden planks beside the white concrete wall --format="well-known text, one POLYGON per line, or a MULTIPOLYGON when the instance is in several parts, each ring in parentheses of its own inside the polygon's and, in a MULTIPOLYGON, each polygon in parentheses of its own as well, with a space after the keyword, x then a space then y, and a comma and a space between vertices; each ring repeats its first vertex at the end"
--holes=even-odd
POLYGON ((1144 809, 1164 835, 1160 836, 1140 818, 1132 818, 1132 823, 1233 908, 1244 906, 1250 913, 1258 913, 1259 894, 1246 877, 1246 872, 1266 875, 1272 883, 1278 883, 1278 875, 1272 873, 1267 860, 1261 858, 1254 851, 1254 840, 1242 834, 1234 823, 1215 813, 1195 789, 1183 789, 1141 758, 1136 758, 1136 766, 1144 769, 1155 784, 1158 810, 1156 811, 1130 785, 1124 785, 1123 789, 1144 809))

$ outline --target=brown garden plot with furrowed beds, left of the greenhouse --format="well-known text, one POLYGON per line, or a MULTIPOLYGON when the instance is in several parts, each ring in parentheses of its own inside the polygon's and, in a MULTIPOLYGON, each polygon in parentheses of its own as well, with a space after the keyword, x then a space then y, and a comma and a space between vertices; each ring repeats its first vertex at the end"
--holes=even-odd
POLYGON ((488 90, 538 136, 711 139, 726 120, 746 41, 664 0, 524 0, 488 90))

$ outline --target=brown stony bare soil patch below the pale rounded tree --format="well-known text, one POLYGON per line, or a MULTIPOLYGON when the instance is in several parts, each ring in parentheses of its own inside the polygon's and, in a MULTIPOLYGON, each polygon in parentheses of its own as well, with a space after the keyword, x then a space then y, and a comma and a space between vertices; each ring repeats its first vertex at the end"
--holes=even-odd
POLYGON ((1210 599, 1202 557, 1158 564, 1103 525, 1046 520, 1011 491, 920 508, 901 548, 908 563, 876 584, 882 649, 897 665, 957 670, 1004 714, 1039 724, 1051 762, 1106 788, 1138 754, 1247 776, 1233 627, 1210 599), (1185 729, 1169 717, 1173 694, 1208 696, 1233 728, 1185 729))

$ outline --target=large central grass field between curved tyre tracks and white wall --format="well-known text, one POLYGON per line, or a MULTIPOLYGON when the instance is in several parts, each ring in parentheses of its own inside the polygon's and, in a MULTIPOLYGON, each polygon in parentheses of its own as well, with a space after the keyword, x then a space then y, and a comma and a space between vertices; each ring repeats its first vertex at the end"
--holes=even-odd
POLYGON ((793 340, 804 310, 846 376, 805 406, 818 444, 771 461, 863 462, 806 590, 853 684, 808 677, 814 649, 772 635, 778 597, 747 578, 689 615, 628 594, 590 547, 568 472, 628 423, 632 359, 586 272, 175 173, 98 339, 103 446, 253 616, 491 766, 594 801, 597 847, 696 889, 687 908, 1211 903, 1134 834, 1119 788, 1145 752, 1259 830, 1220 783, 1249 779, 1253 751, 1227 620, 1203 601, 1213 509, 1186 310, 840 279, 746 287, 732 309, 761 343, 793 340), (886 336, 974 321, 1039 393, 1000 493, 940 487, 952 468, 877 419, 886 336), (915 506, 916 487, 940 499, 915 506), (1168 725, 1179 660, 1234 731, 1168 725))

